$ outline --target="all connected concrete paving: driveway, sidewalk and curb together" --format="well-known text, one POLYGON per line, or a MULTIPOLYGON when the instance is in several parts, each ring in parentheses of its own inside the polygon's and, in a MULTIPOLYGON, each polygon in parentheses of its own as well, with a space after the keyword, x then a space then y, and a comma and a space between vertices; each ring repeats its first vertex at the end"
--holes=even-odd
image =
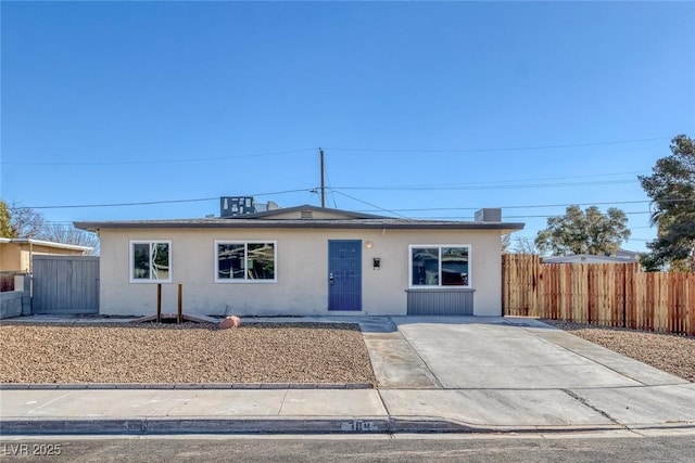
POLYGON ((3 385, 0 432, 306 434, 678 428, 695 434, 695 383, 535 320, 269 320, 359 323, 379 388, 169 385, 165 389, 167 385, 147 385, 125 389, 111 385, 103 389, 21 389, 3 385))

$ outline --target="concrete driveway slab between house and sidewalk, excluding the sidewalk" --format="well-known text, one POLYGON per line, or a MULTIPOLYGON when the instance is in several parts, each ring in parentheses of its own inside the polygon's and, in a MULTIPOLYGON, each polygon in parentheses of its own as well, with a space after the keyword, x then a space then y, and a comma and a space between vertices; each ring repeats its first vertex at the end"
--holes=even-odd
POLYGON ((391 320, 392 329, 365 333, 381 388, 569 389, 687 384, 532 319, 391 320))

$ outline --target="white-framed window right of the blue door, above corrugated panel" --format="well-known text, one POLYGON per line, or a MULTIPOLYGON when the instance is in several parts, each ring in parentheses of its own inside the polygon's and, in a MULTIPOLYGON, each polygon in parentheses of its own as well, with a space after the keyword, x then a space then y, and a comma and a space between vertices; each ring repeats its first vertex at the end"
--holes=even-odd
POLYGON ((412 245, 410 286, 470 286, 470 246, 412 245))

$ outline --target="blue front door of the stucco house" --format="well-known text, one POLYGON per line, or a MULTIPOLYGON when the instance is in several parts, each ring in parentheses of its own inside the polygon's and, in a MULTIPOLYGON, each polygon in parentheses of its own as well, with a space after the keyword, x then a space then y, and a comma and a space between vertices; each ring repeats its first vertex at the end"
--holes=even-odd
POLYGON ((328 310, 362 310, 362 241, 328 241, 328 310))

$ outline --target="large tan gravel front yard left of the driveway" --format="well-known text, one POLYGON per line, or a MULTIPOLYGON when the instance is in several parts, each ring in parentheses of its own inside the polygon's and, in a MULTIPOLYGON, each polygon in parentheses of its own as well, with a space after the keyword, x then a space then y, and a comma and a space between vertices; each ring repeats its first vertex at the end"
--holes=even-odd
POLYGON ((371 383, 356 324, 0 326, 0 383, 371 383))

